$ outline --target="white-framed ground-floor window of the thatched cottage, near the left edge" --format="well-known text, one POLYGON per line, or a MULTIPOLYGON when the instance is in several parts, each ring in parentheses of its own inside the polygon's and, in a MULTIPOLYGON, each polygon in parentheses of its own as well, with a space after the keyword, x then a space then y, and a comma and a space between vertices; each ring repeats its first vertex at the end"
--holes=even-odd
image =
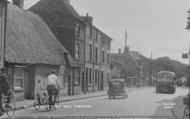
POLYGON ((24 88, 24 72, 21 68, 14 69, 14 89, 24 88))

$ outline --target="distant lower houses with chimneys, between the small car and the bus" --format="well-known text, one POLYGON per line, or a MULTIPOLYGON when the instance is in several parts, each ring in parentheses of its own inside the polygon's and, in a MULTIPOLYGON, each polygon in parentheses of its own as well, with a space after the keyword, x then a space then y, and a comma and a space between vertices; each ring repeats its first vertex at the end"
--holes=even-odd
POLYGON ((149 62, 144 61, 138 52, 124 48, 121 53, 111 54, 111 78, 124 78, 128 86, 146 86, 150 77, 149 62))

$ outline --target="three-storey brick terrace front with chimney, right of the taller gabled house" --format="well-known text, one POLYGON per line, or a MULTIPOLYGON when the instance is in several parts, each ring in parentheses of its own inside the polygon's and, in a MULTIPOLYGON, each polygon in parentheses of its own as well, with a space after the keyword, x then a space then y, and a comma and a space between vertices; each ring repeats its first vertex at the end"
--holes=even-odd
POLYGON ((87 24, 85 32, 85 90, 104 90, 110 79, 112 39, 93 25, 93 18, 88 13, 82 18, 87 24))

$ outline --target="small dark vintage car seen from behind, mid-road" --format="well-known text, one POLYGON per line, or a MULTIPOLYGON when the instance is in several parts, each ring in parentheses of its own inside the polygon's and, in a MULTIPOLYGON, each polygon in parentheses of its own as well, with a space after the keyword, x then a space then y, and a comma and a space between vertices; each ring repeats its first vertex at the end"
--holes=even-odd
POLYGON ((128 88, 124 79, 112 79, 109 81, 108 96, 115 98, 116 96, 128 97, 128 88))

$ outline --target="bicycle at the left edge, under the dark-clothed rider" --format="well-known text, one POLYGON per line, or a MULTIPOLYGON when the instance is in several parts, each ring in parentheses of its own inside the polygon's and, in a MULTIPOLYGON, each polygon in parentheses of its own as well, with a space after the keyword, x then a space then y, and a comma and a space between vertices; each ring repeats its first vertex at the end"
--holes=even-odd
POLYGON ((15 113, 15 110, 16 110, 14 94, 11 92, 10 102, 8 104, 10 107, 6 106, 7 99, 8 99, 8 96, 2 94, 2 104, 3 104, 3 109, 5 110, 4 113, 7 113, 7 116, 9 118, 12 118, 14 116, 14 113, 15 113))

